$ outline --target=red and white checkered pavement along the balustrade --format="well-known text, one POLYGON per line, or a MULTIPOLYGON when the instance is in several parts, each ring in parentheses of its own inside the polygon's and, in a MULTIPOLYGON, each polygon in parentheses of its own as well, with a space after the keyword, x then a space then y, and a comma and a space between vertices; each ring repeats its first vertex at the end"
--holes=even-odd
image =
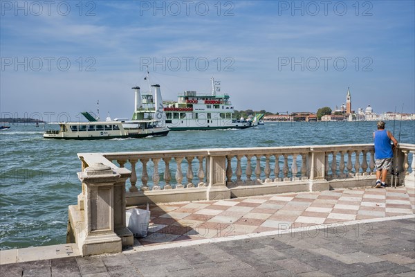
POLYGON ((150 206, 147 246, 415 213, 412 188, 353 188, 150 206))

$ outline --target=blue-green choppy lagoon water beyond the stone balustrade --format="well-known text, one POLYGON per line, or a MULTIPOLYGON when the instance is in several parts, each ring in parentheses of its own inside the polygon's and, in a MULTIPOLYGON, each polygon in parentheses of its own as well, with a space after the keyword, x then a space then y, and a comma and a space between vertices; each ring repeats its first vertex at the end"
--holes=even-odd
MULTIPOLYGON (((393 131, 394 122, 387 122, 393 131)), ((46 127, 48 128, 48 127, 46 127)), ((170 132, 147 139, 43 139, 42 126, 0 131, 0 249, 66 242, 68 205, 77 203, 79 152, 373 143, 376 122, 266 123, 249 129, 170 132)), ((396 121, 401 143, 415 143, 415 121, 396 121)))

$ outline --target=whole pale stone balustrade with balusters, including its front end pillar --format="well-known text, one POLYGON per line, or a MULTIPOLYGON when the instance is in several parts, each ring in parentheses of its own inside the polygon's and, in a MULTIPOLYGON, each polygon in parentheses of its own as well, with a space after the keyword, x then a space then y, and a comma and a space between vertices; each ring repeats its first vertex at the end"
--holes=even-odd
MULTIPOLYGON (((394 171, 400 172, 399 185, 415 186, 414 153, 412 144, 400 144, 397 150, 394 171)), ((68 241, 76 241, 82 255, 108 253, 114 234, 120 238, 116 251, 133 243, 125 228, 125 206, 365 187, 373 186, 376 179, 373 144, 82 153, 78 157, 82 193, 78 205, 69 206, 68 241), (107 179, 97 173, 102 168, 107 179), (109 225, 102 223, 105 220, 109 225), (88 246, 100 235, 109 235, 102 237, 109 247, 88 246)))

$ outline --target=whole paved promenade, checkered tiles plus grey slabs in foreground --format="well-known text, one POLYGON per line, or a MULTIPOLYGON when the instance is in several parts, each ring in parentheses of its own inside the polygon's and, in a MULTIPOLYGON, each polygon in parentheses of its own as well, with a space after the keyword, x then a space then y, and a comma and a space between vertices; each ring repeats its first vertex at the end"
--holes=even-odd
POLYGON ((414 276, 414 212, 414 188, 402 186, 158 204, 149 235, 122 253, 80 258, 66 245, 50 247, 50 258, 19 262, 24 249, 1 251, 0 273, 414 276), (15 260, 6 259, 12 251, 15 260))

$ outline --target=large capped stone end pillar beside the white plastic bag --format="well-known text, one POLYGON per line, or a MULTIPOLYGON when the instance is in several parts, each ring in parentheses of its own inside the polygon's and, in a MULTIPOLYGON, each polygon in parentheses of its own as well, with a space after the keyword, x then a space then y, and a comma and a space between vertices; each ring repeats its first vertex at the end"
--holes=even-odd
POLYGON ((102 163, 93 163, 78 172, 78 177, 85 191, 84 231, 78 240, 81 255, 120 252, 121 238, 114 232, 114 187, 120 182, 120 174, 102 163))

